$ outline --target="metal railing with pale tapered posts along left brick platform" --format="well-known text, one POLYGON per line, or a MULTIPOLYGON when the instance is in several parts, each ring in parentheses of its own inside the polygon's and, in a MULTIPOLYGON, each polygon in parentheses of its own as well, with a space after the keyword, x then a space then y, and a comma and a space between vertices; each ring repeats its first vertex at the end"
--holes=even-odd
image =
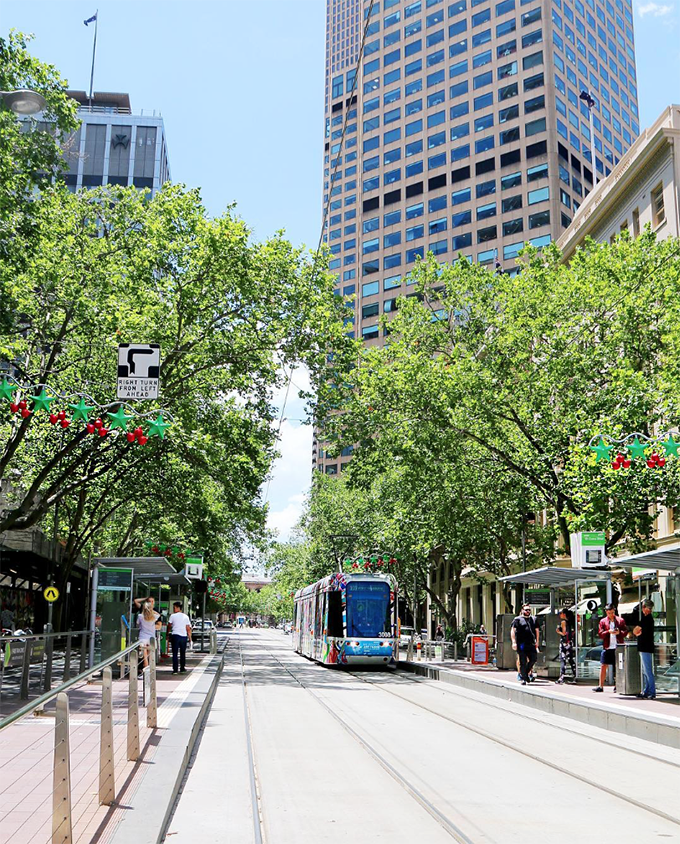
MULTIPOLYGON (((22 818, 24 818, 21 826, 28 824, 31 820, 31 815, 35 814, 36 807, 34 806, 34 803, 36 799, 42 797, 42 801, 37 808, 42 807, 41 817, 45 816, 43 817, 43 825, 39 828, 38 833, 36 833, 36 831, 30 829, 29 824, 25 828, 27 840, 39 841, 41 840, 41 835, 39 833, 43 833, 44 838, 42 838, 42 840, 49 841, 50 844, 72 844, 74 840, 73 793, 76 785, 81 789, 79 796, 81 801, 83 799, 91 801, 92 798, 90 795, 93 793, 97 794, 97 801, 99 805, 111 805, 116 800, 120 789, 116 788, 115 756, 118 755, 118 762, 120 764, 120 754, 122 753, 123 747, 125 748, 124 758, 126 761, 136 762, 141 753, 138 686, 139 655, 140 643, 135 642, 108 659, 105 659, 89 668, 85 668, 85 670, 81 671, 76 677, 68 679, 57 688, 51 689, 50 691, 42 694, 40 697, 30 701, 20 709, 13 712, 11 715, 8 715, 0 720, 0 733, 8 729, 21 729, 22 726, 26 726, 28 729, 23 735, 27 736, 28 739, 33 739, 34 731, 30 729, 30 724, 32 722, 25 721, 24 719, 32 713, 45 715, 45 707, 52 703, 55 704, 53 713, 53 747, 48 751, 48 753, 43 753, 42 755, 38 754, 40 757, 38 762, 42 762, 43 766, 48 765, 49 758, 52 758, 51 771, 48 771, 47 775, 44 775, 43 773, 42 776, 37 770, 35 773, 32 771, 25 772, 24 775, 28 777, 28 794, 25 798, 19 797, 17 801, 16 787, 14 788, 13 799, 15 800, 15 805, 12 807, 10 813, 6 814, 3 818, 3 825, 8 818, 11 823, 12 811, 16 811, 22 818), (121 675, 123 675, 123 677, 127 669, 128 679, 127 683, 122 682, 120 684, 116 684, 116 687, 114 688, 112 667, 116 664, 121 666, 121 675), (91 698, 93 695, 97 694, 96 691, 93 691, 97 687, 93 686, 91 683, 84 687, 83 684, 86 684, 87 681, 99 674, 101 674, 101 700, 100 706, 97 707, 97 709, 100 710, 99 717, 97 717, 96 713, 93 714, 91 702, 87 700, 88 697, 91 698), (74 722, 76 726, 75 730, 73 730, 68 693, 73 692, 77 687, 81 687, 81 690, 84 688, 86 694, 85 699, 81 703, 81 707, 77 713, 77 717, 74 722), (114 692, 118 694, 118 702, 115 707, 114 692), (117 711, 115 718, 114 708, 117 711), (23 725, 21 722, 23 722, 23 725), (125 727, 124 738, 120 736, 121 724, 125 727), (88 742, 90 744, 92 743, 92 730, 96 729, 97 726, 99 727, 99 765, 96 766, 98 769, 96 771, 96 787, 92 787, 95 786, 95 782, 92 783, 92 786, 89 786, 88 784, 83 793, 81 783, 72 784, 71 782, 71 763, 73 760, 73 752, 74 749, 78 749, 80 754, 79 758, 82 759, 82 754, 84 752, 83 746, 86 746, 88 742), (89 731, 87 728, 89 728, 89 731), (121 746, 118 751, 116 751, 115 748, 116 728, 118 728, 118 734, 121 738, 121 746), (85 738, 79 742, 76 748, 72 748, 71 740, 73 734, 77 733, 78 730, 80 730, 81 734, 84 733, 85 738), (48 788, 48 780, 50 777, 52 782, 51 791, 48 788), (41 783, 43 789, 42 792, 37 789, 37 786, 41 783), (22 811, 22 799, 31 801, 30 808, 32 812, 27 811, 29 805, 28 803, 26 803, 26 810, 22 811), (50 800, 51 824, 49 823, 50 819, 46 816, 47 804, 50 800), (51 829, 51 832, 47 831, 47 827, 51 829)), ((144 668, 142 673, 145 684, 144 701, 146 702, 146 728, 154 729, 158 725, 156 643, 154 640, 149 643, 148 660, 149 665, 144 668)), ((44 722, 45 718, 41 718, 40 721, 44 722)), ((32 742, 26 743, 23 735, 21 736, 21 740, 17 743, 20 750, 14 757, 11 756, 12 742, 4 742, 5 748, 9 748, 10 752, 9 754, 3 754, 3 767, 7 767, 8 776, 1 777, 0 779, 2 780, 7 781, 9 779, 10 782, 13 782, 10 768, 12 760, 13 758, 17 758, 23 754, 26 744, 28 744, 29 748, 36 744, 42 744, 43 748, 47 745, 48 738, 45 737, 42 730, 39 731, 38 739, 32 742)), ((35 748, 33 752, 36 753, 35 748)), ((89 755, 91 755, 91 752, 89 755)), ((91 766, 87 767, 88 770, 91 770, 91 766)), ((79 774, 79 777, 76 779, 82 779, 82 775, 79 774)), ((16 786, 15 782, 13 782, 13 784, 16 786)), ((1 793, 2 792, 0 791, 0 794, 1 793)), ((80 817, 85 814, 85 812, 81 812, 80 817)), ((77 820, 79 820, 78 816, 76 816, 76 821, 77 820)))

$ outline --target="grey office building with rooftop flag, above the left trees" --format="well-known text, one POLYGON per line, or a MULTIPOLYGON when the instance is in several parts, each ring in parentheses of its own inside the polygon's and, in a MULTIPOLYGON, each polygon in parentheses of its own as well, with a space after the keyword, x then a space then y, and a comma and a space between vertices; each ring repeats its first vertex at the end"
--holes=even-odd
POLYGON ((80 127, 64 143, 70 190, 133 185, 153 193, 170 179, 163 118, 133 114, 128 94, 69 91, 78 102, 80 127))

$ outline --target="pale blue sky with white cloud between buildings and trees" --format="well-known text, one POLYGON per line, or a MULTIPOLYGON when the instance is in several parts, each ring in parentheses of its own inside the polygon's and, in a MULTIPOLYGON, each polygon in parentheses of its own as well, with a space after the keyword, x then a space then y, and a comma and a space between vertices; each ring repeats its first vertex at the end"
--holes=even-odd
MULTIPOLYGON (((95 89, 128 92, 134 111, 163 114, 173 179, 200 187, 211 214, 236 202, 259 238, 284 228, 293 243, 315 246, 324 0, 5 0, 0 32, 34 33, 35 55, 86 90, 92 28, 83 21, 97 8, 95 89)), ((643 129, 680 101, 679 15, 675 0, 635 5, 643 129)), ((310 478, 311 431, 296 421, 303 413, 295 396, 292 389, 268 491, 271 524, 284 536, 310 478)))

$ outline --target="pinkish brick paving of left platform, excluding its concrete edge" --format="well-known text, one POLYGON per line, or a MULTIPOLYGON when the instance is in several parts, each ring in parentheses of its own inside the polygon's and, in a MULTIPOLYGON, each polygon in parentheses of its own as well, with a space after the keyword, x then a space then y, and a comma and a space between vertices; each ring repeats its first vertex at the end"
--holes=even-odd
MULTIPOLYGON (((111 840, 145 778, 154 774, 164 743, 172 741, 183 707, 188 703, 191 717, 198 715, 192 690, 205 685, 201 678, 215 659, 192 653, 187 656, 187 674, 177 676, 172 675, 168 660, 161 661, 157 672, 158 728, 146 727, 146 709, 140 706, 141 755, 136 762, 126 758, 128 680, 113 683, 113 806, 100 806, 98 801, 101 685, 83 684, 69 691, 74 844, 111 840)), ((140 698, 141 687, 140 680, 140 698)), ((0 844, 51 842, 53 711, 54 705, 48 706, 46 714, 29 715, 0 732, 0 844)))

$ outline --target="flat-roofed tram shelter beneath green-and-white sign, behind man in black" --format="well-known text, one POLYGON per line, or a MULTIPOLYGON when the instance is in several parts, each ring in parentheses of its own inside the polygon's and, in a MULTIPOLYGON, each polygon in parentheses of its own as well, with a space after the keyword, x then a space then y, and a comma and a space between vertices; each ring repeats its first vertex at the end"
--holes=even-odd
MULTIPOLYGON (((592 600, 589 595, 584 596, 584 591, 593 592, 593 587, 596 591, 602 594, 604 590, 605 603, 611 601, 612 598, 612 583, 611 572, 603 569, 578 569, 578 568, 562 568, 559 566, 544 566, 540 569, 532 569, 531 571, 519 572, 518 574, 511 574, 507 577, 500 578, 505 583, 511 585, 523 586, 530 589, 542 589, 547 591, 548 600, 545 604, 549 607, 544 610, 544 613, 555 614, 559 611, 560 606, 564 605, 564 593, 568 592, 568 603, 573 601, 574 615, 575 615, 575 658, 576 658, 576 676, 577 677, 591 677, 592 666, 591 662, 594 659, 588 659, 589 651, 596 645, 594 625, 591 622, 591 613, 587 611, 586 605, 592 600), (560 595, 562 593, 562 595, 560 595), (559 604, 558 604, 559 600, 559 604), (585 649, 584 658, 579 659, 579 648, 585 649), (586 670, 589 669, 589 670, 586 670)), ((525 592, 525 594, 528 594, 525 592)), ((599 596, 596 597, 598 604, 602 604, 599 596)), ((546 640, 548 653, 545 655, 544 662, 555 662, 557 657, 557 650, 559 640, 556 632, 553 633, 553 628, 556 625, 546 623, 544 629, 544 636, 546 640)), ((599 658, 599 657, 598 657, 599 658)), ((547 670, 546 665, 546 670, 547 670)))

